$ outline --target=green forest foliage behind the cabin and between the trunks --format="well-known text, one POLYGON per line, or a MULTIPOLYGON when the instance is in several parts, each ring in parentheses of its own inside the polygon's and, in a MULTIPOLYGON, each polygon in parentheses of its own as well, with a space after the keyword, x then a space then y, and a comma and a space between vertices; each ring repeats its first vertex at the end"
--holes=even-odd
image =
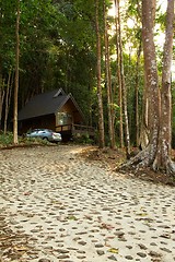
MULTIPOLYGON (((9 70, 15 69, 16 1, 0 0, 0 73, 8 81, 9 70)), ((106 0, 106 8, 112 4, 106 0)), ((135 140, 136 75, 139 78, 139 110, 142 110, 143 58, 137 69, 137 56, 141 43, 141 1, 129 0, 121 9, 121 37, 125 81, 128 95, 128 115, 131 138, 135 140), (132 26, 130 26, 131 21, 132 26), (137 72, 137 70, 139 72, 137 72)), ((96 97, 96 35, 95 5, 92 0, 25 0, 20 1, 20 90, 19 109, 33 95, 62 87, 72 93, 88 123, 97 126, 96 97)), ((108 26, 114 20, 107 19, 108 26)), ((156 15, 156 23, 164 29, 165 14, 156 15)), ((105 86, 103 1, 100 1, 100 28, 102 33, 102 78, 105 131, 108 133, 107 98, 105 86)), ((110 55, 116 53, 116 35, 109 38, 110 55)), ((175 52, 174 52, 175 53, 175 52)), ((162 50, 158 50, 159 74, 162 69, 162 50)), ((113 109, 118 136, 119 108, 117 63, 112 60, 113 109)), ((174 88, 174 87, 173 87, 174 88)), ((173 97, 174 90, 173 90, 173 97)), ((173 98, 173 102, 175 98, 173 98)), ((175 109, 173 108, 173 130, 175 109)), ((3 110, 4 111, 4 110, 3 110)), ((107 136, 107 135, 106 135, 107 136)), ((1 138, 10 141, 10 136, 1 138), (9 138, 9 139, 8 139, 9 138)), ((173 131, 173 138, 175 138, 173 131)), ((82 143, 90 138, 82 138, 82 143)), ((12 140, 12 138, 11 138, 12 140)), ((107 140, 107 138, 106 138, 107 140)), ((174 140, 173 140, 174 141, 174 140)), ((31 141, 26 141, 31 143, 31 141)), ((174 143, 174 142, 173 142, 174 143)))

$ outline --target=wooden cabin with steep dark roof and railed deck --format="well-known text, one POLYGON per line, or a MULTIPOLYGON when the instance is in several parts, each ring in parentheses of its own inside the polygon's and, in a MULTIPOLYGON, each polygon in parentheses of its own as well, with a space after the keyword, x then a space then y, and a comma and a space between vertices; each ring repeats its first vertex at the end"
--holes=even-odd
POLYGON ((63 140, 79 133, 93 135, 93 129, 85 126, 83 114, 73 96, 67 95, 62 88, 34 96, 19 111, 19 133, 35 128, 60 132, 63 140))

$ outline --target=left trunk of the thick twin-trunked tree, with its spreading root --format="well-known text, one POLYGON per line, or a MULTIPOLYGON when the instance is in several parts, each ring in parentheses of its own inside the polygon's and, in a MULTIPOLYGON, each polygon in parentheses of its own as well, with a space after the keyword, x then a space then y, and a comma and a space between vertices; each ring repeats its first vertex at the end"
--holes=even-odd
MULTIPOLYGON (((154 1, 154 0, 152 0, 154 1)), ((153 41, 152 1, 142 0, 142 41, 144 56, 145 93, 149 99, 149 144, 131 159, 127 166, 148 167, 153 164, 156 153, 160 127, 160 96, 158 85, 158 67, 153 41)))

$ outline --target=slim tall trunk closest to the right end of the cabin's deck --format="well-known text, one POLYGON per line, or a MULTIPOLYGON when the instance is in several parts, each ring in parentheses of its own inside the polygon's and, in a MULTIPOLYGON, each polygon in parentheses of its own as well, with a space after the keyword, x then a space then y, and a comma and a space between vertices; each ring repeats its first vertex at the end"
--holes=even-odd
POLYGON ((101 33, 98 24, 98 0, 95 0, 95 25, 96 25, 96 53, 97 53, 97 103, 98 103, 98 144, 103 148, 105 146, 104 135, 104 116, 103 116, 103 100, 101 86, 101 33))

